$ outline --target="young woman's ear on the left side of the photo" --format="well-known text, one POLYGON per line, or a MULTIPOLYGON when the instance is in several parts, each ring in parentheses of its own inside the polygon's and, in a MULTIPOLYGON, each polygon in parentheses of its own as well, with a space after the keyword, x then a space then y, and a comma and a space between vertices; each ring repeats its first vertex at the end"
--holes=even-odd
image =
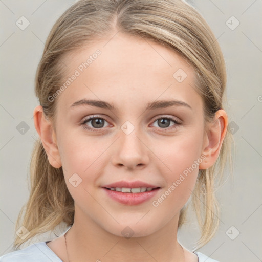
POLYGON ((61 159, 52 123, 46 119, 41 105, 35 107, 33 114, 35 129, 41 138, 42 145, 43 148, 45 148, 50 165, 55 168, 61 167, 61 159))

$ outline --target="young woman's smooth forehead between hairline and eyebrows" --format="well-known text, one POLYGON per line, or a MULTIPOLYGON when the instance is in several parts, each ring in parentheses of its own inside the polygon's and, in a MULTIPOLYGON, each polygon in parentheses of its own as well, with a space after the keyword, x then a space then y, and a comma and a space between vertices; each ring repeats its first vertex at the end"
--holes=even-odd
POLYGON ((68 77, 76 75, 59 96, 69 108, 88 98, 131 108, 158 98, 178 99, 199 107, 189 63, 160 43, 122 33, 83 46, 65 58, 68 77))

